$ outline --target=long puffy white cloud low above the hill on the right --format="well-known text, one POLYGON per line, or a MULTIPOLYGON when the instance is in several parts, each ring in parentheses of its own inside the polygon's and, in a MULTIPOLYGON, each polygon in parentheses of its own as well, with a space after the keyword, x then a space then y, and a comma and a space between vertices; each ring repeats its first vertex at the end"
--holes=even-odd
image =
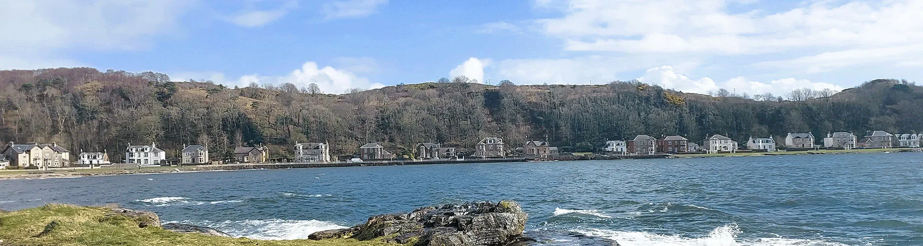
POLYGON ((821 90, 830 88, 836 91, 843 90, 843 87, 824 82, 811 82, 807 79, 796 79, 792 77, 782 78, 763 83, 759 81, 750 81, 746 77, 738 76, 728 79, 722 83, 715 83, 712 78, 707 76, 699 79, 691 79, 674 71, 672 66, 665 65, 654 67, 647 70, 644 76, 639 80, 663 88, 673 88, 683 92, 707 94, 720 88, 728 91, 736 91, 738 94, 748 93, 749 95, 773 93, 776 96, 784 96, 788 92, 797 88, 810 88, 821 90))

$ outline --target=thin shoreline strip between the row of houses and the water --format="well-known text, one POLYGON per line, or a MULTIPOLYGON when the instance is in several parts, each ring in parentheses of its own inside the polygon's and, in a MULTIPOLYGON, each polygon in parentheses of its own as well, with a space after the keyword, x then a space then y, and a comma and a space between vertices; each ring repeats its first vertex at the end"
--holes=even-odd
MULTIPOLYGON (((736 158, 736 157, 767 157, 767 156, 804 156, 804 155, 843 155, 843 154, 880 154, 880 153, 898 153, 898 152, 923 152, 923 148, 874 148, 874 149, 850 149, 850 150, 807 150, 807 151, 777 151, 777 152, 759 152, 759 153, 722 153, 722 154, 681 154, 673 155, 674 158, 736 158)), ((581 161, 587 159, 577 159, 581 161)), ((590 160, 618 160, 618 159, 590 159, 590 160)), ((184 167, 150 167, 138 169, 81 169, 81 170, 0 170, 0 181, 2 180, 31 180, 31 179, 59 179, 59 178, 80 178, 80 177, 99 177, 99 176, 117 176, 117 175, 137 175, 137 174, 162 174, 162 173, 185 173, 185 172, 205 172, 205 171, 231 171, 231 170, 274 170, 274 169, 309 169, 309 168, 345 168, 345 167, 368 167, 368 166, 402 166, 402 165, 433 165, 433 164, 474 164, 474 163, 503 163, 503 162, 522 162, 525 158, 502 158, 502 159, 465 159, 465 160, 443 160, 443 161, 379 161, 379 162, 356 162, 356 163, 259 163, 259 164, 222 164, 222 165, 201 165, 201 166, 184 166, 184 167), (41 173, 40 173, 41 172, 41 173)))

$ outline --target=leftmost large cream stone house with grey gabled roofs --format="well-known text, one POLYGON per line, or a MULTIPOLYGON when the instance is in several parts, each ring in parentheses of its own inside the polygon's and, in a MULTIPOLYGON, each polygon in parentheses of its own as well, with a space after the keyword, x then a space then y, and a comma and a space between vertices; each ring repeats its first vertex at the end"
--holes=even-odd
POLYGON ((17 145, 9 142, 3 150, 3 156, 9 161, 11 167, 68 167, 70 166, 70 151, 57 143, 51 145, 37 145, 30 143, 17 145))

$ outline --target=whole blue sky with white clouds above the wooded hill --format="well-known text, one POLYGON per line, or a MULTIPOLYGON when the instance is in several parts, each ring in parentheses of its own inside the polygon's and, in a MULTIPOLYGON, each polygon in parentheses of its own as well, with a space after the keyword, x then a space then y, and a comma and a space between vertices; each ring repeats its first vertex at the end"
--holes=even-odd
POLYGON ((917 0, 0 0, 0 69, 90 66, 328 93, 469 76, 784 94, 923 66, 917 0), (4 37, 5 36, 5 37, 4 37))

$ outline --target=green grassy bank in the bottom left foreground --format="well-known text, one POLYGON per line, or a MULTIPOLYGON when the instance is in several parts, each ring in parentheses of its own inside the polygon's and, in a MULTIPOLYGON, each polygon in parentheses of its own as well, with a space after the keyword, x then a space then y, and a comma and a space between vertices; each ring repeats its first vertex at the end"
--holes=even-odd
POLYGON ((127 217, 105 217, 108 209, 77 205, 44 205, 0 214, 0 245, 267 245, 384 246, 380 240, 249 240, 138 228, 127 217), (58 226, 42 236, 52 221, 58 226))

